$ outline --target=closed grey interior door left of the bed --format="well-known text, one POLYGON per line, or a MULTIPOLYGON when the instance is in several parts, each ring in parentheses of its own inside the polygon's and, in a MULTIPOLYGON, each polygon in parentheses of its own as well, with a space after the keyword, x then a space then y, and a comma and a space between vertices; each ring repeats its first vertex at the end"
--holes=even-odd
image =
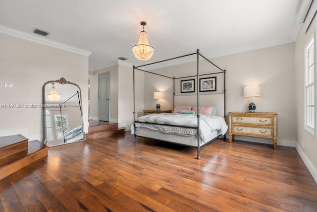
POLYGON ((109 121, 109 81, 110 74, 99 74, 98 90, 98 120, 109 121))

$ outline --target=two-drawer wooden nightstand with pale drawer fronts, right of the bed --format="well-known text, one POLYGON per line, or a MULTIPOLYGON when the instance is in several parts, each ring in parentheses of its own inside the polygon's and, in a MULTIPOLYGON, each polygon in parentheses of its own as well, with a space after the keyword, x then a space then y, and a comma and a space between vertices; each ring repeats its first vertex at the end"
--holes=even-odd
POLYGON ((234 136, 252 136, 273 139, 273 146, 277 146, 277 113, 230 112, 229 141, 234 136))

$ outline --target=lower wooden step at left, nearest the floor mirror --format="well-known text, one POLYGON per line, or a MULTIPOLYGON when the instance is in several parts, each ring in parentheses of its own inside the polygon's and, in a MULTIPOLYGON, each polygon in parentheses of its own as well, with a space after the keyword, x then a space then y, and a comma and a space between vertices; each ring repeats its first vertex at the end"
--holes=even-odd
POLYGON ((41 141, 28 141, 28 148, 0 159, 0 180, 48 155, 48 146, 41 141))

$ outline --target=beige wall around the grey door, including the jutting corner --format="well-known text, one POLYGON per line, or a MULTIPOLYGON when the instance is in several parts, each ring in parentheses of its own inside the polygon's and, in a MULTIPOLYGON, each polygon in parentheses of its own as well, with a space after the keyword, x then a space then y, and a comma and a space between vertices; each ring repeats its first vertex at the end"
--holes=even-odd
MULTIPOLYGON (((98 74, 110 73, 110 122, 130 130, 133 123, 133 69, 116 65, 90 75, 90 117, 98 117, 98 74)), ((136 72, 136 113, 143 114, 144 73, 136 72)))

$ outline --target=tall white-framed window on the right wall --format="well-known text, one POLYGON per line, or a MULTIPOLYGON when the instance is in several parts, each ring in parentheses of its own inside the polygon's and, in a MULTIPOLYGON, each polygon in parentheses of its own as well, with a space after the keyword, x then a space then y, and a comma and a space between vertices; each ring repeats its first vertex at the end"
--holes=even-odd
POLYGON ((306 46, 305 129, 315 135, 315 37, 306 46))

